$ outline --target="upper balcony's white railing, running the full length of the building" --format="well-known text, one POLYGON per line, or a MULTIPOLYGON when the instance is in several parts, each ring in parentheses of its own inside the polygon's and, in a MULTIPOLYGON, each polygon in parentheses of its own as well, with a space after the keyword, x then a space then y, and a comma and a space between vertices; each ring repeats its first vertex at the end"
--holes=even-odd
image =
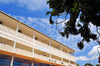
MULTIPOLYGON (((4 37, 6 39, 10 39, 12 41, 15 41, 16 31, 9 28, 9 27, 6 27, 6 26, 0 24, 0 36, 4 37)), ((35 40, 35 39, 33 39, 33 38, 31 38, 27 35, 24 35, 22 33, 19 33, 19 32, 17 34, 16 42, 18 42, 20 44, 23 44, 23 45, 26 45, 26 46, 29 46, 29 47, 33 47, 33 45, 34 45, 35 49, 39 49, 39 47, 42 47, 43 49, 46 49, 45 52, 50 53, 50 46, 49 45, 47 45, 45 43, 42 43, 38 40, 35 40), (34 43, 34 41, 35 41, 35 43, 34 43)), ((11 50, 9 50, 9 51, 11 51, 11 50)), ((44 50, 41 50, 41 51, 44 51, 44 50)), ((17 52, 17 50, 16 50, 16 52, 17 52)), ((75 62, 75 57, 74 56, 71 56, 70 54, 62 52, 61 50, 58 50, 54 47, 51 47, 51 54, 56 55, 58 57, 63 57, 67 60, 71 60, 71 61, 75 62)), ((25 54, 25 55, 27 55, 27 54, 25 54)), ((29 57, 31 57, 31 54, 30 54, 29 57)))

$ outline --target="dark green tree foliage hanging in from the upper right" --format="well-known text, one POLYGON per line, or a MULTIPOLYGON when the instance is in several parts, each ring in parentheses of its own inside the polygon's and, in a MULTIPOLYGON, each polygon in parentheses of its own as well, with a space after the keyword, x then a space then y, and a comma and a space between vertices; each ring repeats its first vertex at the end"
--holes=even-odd
MULTIPOLYGON (((62 36, 66 35, 68 38, 69 34, 80 34, 83 37, 82 40, 88 43, 90 39, 97 39, 97 35, 91 32, 89 25, 92 23, 95 26, 100 26, 100 0, 48 0, 47 4, 52 9, 51 12, 46 13, 46 15, 50 14, 50 24, 56 23, 52 20, 52 16, 65 15, 66 19, 66 16, 70 15, 69 21, 65 23, 64 31, 59 32, 62 36), (77 18, 79 18, 78 22, 77 18)), ((78 42, 79 49, 84 47, 82 40, 78 42)))

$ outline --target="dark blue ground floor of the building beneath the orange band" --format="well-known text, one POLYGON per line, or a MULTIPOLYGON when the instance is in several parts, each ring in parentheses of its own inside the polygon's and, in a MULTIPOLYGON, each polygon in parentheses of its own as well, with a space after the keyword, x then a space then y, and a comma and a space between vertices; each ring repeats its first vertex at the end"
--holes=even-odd
MULTIPOLYGON (((0 54, 0 66, 10 66, 11 65, 12 56, 0 54)), ((27 60, 19 57, 14 57, 13 66, 50 66, 50 64, 41 63, 38 61, 27 60)), ((55 65, 52 65, 55 66, 55 65)))

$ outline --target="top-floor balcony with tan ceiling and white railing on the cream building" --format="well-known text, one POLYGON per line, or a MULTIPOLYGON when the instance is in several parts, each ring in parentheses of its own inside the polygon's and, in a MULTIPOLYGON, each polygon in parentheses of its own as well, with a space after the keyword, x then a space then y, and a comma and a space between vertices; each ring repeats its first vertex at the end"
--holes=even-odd
MULTIPOLYGON (((70 55, 70 53, 74 53, 75 51, 71 48, 66 47, 56 40, 1 11, 0 21, 2 22, 2 25, 0 24, 0 38, 2 37, 4 40, 8 39, 10 41, 16 42, 19 44, 19 47, 22 46, 23 48, 23 46, 25 46, 27 49, 39 50, 41 52, 51 54, 51 57, 54 56, 63 58, 63 61, 70 60, 71 62, 75 63, 75 56, 70 55), (16 30, 17 27, 18 31, 16 30)), ((12 43, 12 46, 13 45, 14 43, 12 43)))

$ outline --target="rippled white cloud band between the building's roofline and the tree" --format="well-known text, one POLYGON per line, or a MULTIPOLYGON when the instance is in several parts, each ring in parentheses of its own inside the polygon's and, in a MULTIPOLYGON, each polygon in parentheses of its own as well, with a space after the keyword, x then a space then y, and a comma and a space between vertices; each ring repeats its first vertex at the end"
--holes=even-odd
MULTIPOLYGON (((66 46, 74 49, 75 51, 80 51, 77 47, 77 42, 82 39, 80 35, 77 35, 77 36, 69 35, 68 39, 66 37, 62 37, 56 30, 55 25, 51 26, 49 24, 49 18, 34 18, 34 17, 24 17, 24 16, 13 16, 13 17, 39 30, 40 32, 48 35, 49 37, 59 41, 60 43, 65 44, 66 46)), ((60 21, 62 20, 63 19, 60 18, 60 21)), ((62 24, 60 25, 59 28, 61 27, 62 27, 62 24)))

